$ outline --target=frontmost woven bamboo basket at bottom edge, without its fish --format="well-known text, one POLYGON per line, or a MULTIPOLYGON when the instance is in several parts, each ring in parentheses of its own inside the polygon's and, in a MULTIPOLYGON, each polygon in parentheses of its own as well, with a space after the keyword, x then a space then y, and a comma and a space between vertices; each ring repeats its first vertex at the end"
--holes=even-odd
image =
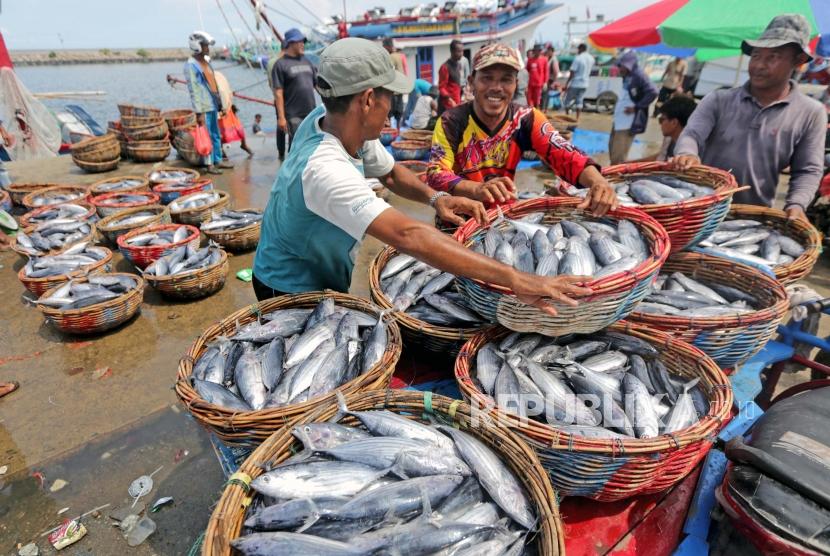
MULTIPOLYGON (((483 427, 476 422, 467 404, 432 395, 430 392, 406 390, 373 390, 352 393, 346 396, 346 404, 353 411, 388 410, 409 419, 426 421, 426 416, 453 423, 465 432, 475 436, 499 454, 500 459, 510 467, 533 502, 535 514, 539 516, 536 530, 529 536, 528 545, 535 545, 531 553, 558 556, 565 553, 565 535, 559 514, 557 496, 551 486, 541 462, 520 438, 506 428, 483 427), (421 418, 420 416, 423 416, 421 418)), ((245 512, 256 493, 250 490, 250 482, 260 476, 265 465, 275 466, 288 459, 299 443, 291 430, 295 426, 327 421, 337 415, 337 406, 329 402, 302 415, 299 419, 275 431, 268 437, 234 475, 225 487, 222 497, 208 522, 203 556, 230 556, 229 542, 240 536, 245 512)), ((343 424, 359 426, 352 417, 341 421, 343 424)))

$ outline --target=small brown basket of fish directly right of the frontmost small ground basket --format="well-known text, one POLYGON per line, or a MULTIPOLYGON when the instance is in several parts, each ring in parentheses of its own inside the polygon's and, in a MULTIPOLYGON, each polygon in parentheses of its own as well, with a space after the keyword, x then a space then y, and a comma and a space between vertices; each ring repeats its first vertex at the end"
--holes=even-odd
POLYGON ((164 297, 199 299, 222 289, 228 277, 228 254, 213 246, 177 247, 143 270, 144 279, 164 297))

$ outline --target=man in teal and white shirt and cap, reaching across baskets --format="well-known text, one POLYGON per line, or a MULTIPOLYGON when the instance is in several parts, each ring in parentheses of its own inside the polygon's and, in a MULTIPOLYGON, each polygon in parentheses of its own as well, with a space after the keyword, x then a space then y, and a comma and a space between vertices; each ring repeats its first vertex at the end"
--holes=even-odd
POLYGON ((371 235, 438 269, 511 288, 548 312, 548 300, 574 305, 587 277, 540 277, 479 255, 377 197, 366 181, 380 179, 394 193, 429 204, 441 218, 485 220, 481 203, 436 192, 400 164, 378 138, 392 95, 412 89, 380 45, 359 38, 335 41, 320 56, 317 90, 323 106, 297 130, 279 170, 254 258, 258 299, 330 288, 348 291, 354 254, 371 235))

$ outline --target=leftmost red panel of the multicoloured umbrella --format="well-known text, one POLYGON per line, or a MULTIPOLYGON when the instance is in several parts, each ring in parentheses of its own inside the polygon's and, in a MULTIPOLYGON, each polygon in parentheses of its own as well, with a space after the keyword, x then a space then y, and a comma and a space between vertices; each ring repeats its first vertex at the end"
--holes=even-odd
POLYGON ((609 23, 588 37, 602 48, 634 48, 660 44, 660 26, 669 16, 682 8, 688 0, 661 0, 642 10, 609 23))

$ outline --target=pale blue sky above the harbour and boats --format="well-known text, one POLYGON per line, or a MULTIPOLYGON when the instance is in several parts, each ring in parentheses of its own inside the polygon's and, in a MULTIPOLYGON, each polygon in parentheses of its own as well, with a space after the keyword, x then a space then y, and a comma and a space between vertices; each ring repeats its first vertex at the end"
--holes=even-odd
MULTIPOLYGON (((653 1, 548 0, 548 3, 564 3, 564 6, 539 26, 536 38, 563 43, 564 22, 568 15, 585 19, 586 7, 592 17, 602 13, 608 20, 653 1)), ((314 14, 326 17, 342 13, 344 4, 341 0, 265 0, 263 3, 294 19, 266 10, 281 32, 298 26, 296 20, 316 23, 314 14)), ((396 13, 403 6, 418 3, 412 0, 345 1, 350 19, 376 5, 396 13)), ((251 35, 248 26, 254 26, 254 18, 250 0, 0 0, 0 32, 10 50, 185 47, 187 36, 202 27, 213 34, 217 43, 232 43, 230 28, 219 6, 237 37, 244 40, 251 35), (237 9, 244 15, 244 20, 237 9)), ((585 26, 575 27, 574 31, 577 29, 584 33, 585 26)))

